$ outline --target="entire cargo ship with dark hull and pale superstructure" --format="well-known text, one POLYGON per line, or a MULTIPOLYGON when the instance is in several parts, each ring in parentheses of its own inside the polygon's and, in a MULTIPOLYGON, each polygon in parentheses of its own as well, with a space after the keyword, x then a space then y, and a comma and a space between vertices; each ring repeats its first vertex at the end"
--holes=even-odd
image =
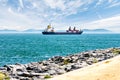
POLYGON ((76 27, 74 27, 73 29, 69 27, 69 29, 65 32, 55 32, 54 28, 51 27, 51 25, 48 25, 47 28, 42 32, 43 35, 80 35, 82 33, 83 31, 81 29, 77 30, 76 27))

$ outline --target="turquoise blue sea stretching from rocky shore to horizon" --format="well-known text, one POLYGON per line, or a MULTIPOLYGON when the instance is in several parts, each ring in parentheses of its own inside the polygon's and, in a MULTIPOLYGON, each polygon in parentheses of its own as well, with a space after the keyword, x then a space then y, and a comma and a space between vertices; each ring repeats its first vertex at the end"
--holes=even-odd
POLYGON ((0 66, 110 47, 120 47, 120 34, 0 34, 0 66))

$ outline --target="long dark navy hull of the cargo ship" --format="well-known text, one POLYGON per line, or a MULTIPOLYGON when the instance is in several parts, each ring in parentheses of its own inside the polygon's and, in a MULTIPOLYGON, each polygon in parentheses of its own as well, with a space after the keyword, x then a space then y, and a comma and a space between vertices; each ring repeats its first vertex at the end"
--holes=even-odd
POLYGON ((44 35, 80 35, 83 31, 79 32, 42 32, 44 35))

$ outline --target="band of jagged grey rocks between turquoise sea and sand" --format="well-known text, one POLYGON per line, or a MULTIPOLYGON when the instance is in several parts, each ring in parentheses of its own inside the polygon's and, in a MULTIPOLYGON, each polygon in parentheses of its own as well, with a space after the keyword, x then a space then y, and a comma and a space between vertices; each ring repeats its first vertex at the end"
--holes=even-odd
POLYGON ((46 80, 119 54, 120 48, 98 49, 69 56, 54 56, 46 61, 4 65, 0 67, 0 72, 8 75, 10 80, 46 80))

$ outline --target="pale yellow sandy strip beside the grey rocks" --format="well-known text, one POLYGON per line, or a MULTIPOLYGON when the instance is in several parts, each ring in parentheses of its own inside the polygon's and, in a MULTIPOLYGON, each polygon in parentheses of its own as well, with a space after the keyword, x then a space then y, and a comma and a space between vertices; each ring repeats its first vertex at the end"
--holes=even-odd
POLYGON ((120 80, 120 55, 48 80, 120 80))

